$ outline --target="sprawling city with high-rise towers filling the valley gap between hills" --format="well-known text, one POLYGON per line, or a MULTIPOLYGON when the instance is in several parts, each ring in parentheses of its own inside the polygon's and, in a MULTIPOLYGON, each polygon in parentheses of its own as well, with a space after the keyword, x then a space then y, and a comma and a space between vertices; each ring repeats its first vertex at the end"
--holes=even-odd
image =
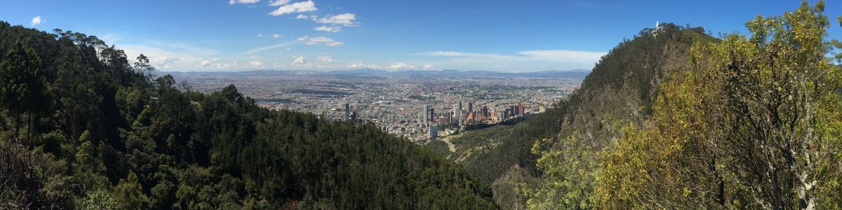
MULTIPOLYGON (((233 84, 260 106, 363 120, 413 142, 443 138, 476 124, 541 113, 579 86, 578 74, 480 72, 176 72, 199 92, 233 84)), ((576 71, 573 71, 576 72, 576 71)))

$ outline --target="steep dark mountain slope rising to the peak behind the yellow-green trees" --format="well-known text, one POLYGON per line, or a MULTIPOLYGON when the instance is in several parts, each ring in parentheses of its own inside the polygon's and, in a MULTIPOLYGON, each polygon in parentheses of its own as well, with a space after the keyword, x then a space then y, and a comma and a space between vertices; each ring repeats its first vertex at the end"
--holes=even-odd
POLYGON ((571 134, 580 137, 574 147, 592 150, 616 141, 623 125, 642 123, 651 114, 659 84, 687 63, 690 46, 713 40, 701 28, 661 24, 643 29, 603 56, 567 100, 514 126, 467 131, 452 140, 456 153, 450 159, 472 176, 493 182, 500 207, 522 208, 525 198, 517 196, 521 189, 512 186, 541 176, 536 170, 539 156, 531 150, 536 140, 548 139, 536 151, 560 148, 561 139, 571 134))

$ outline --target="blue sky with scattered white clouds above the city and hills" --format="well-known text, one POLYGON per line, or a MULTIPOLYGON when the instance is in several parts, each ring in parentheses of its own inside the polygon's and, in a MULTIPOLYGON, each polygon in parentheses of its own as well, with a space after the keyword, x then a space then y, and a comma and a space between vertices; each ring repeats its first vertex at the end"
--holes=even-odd
MULTIPOLYGON (((590 69, 656 21, 745 33, 800 1, 19 1, 0 20, 97 35, 162 71, 590 69), (37 20, 37 21, 36 21, 37 20)), ((835 20, 842 3, 829 1, 835 20)), ((829 30, 839 36, 839 24, 829 30)))

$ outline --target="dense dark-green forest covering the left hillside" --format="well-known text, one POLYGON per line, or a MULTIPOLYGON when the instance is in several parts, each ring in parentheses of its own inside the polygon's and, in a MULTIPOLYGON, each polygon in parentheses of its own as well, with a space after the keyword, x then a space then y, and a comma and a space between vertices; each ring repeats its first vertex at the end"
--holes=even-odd
POLYGON ((495 208, 488 184, 370 123, 154 72, 96 36, 0 22, 0 208, 495 208))

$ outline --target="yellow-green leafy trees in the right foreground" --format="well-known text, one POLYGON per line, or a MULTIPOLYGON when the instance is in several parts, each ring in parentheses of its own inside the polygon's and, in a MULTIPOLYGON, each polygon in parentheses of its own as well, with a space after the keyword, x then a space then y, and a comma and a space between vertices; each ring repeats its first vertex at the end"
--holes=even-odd
POLYGON ((823 2, 695 45, 652 125, 601 164, 601 208, 838 208, 842 71, 823 2))

